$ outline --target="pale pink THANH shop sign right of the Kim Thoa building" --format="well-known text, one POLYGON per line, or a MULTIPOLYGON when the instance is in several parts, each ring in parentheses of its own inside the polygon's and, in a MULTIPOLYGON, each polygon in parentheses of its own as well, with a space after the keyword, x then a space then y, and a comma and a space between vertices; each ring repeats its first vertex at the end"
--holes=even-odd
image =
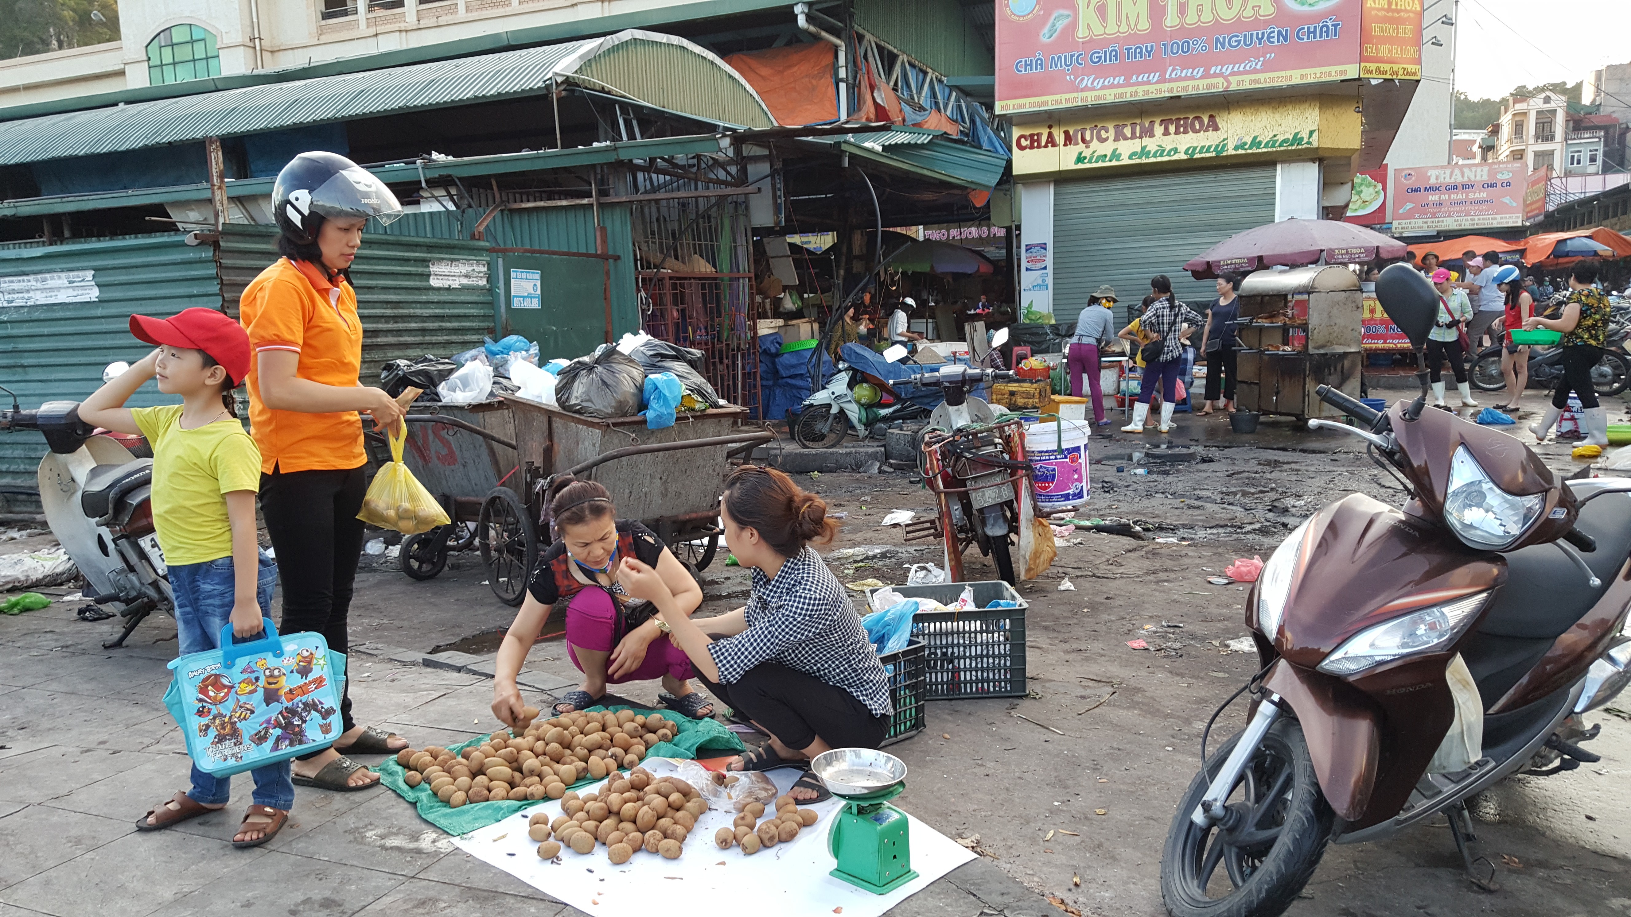
POLYGON ((1523 225, 1528 166, 1429 165, 1393 170, 1393 233, 1523 225))

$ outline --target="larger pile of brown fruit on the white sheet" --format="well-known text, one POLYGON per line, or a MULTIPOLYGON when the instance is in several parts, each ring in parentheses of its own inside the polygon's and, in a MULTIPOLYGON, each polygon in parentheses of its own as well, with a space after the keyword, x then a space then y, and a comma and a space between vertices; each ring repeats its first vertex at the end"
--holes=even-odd
POLYGON ((708 800, 678 777, 652 777, 644 767, 602 786, 600 793, 564 793, 561 816, 553 822, 537 813, 527 835, 538 842, 538 857, 553 860, 563 847, 592 853, 603 844, 613 863, 628 863, 639 850, 677 860, 708 800))

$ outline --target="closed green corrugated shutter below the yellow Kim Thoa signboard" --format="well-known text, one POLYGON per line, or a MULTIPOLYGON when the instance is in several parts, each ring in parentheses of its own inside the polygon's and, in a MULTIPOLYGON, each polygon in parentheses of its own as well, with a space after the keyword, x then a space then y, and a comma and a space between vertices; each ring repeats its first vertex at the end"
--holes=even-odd
POLYGON ((1199 312, 1217 297, 1184 261, 1236 232, 1274 222, 1274 165, 1054 183, 1054 317, 1075 321, 1099 284, 1127 307, 1166 274, 1199 312))

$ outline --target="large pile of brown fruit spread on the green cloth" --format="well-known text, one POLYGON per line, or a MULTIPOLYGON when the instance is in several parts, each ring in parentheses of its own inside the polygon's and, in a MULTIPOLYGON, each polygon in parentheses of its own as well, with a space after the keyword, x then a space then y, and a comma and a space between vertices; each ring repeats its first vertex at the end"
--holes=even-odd
POLYGON ((678 733, 662 718, 633 710, 574 711, 535 724, 537 707, 522 715, 522 734, 499 729, 457 755, 444 747, 396 752, 409 786, 427 783, 452 808, 501 800, 564 800, 566 788, 639 765, 646 751, 678 733))

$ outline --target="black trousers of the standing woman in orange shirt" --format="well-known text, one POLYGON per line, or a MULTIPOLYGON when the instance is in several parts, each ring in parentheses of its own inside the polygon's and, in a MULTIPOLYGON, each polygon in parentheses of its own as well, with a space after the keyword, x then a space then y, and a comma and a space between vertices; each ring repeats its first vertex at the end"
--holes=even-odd
MULTIPOLYGON (((336 472, 279 472, 261 475, 261 516, 277 553, 277 578, 284 587, 281 633, 310 630, 328 648, 346 653, 346 615, 362 555, 362 468, 336 472)), ((349 674, 349 672, 347 672, 349 674)), ((349 731, 351 682, 339 700, 341 728, 349 731)), ((307 757, 316 757, 313 752, 307 757)))

